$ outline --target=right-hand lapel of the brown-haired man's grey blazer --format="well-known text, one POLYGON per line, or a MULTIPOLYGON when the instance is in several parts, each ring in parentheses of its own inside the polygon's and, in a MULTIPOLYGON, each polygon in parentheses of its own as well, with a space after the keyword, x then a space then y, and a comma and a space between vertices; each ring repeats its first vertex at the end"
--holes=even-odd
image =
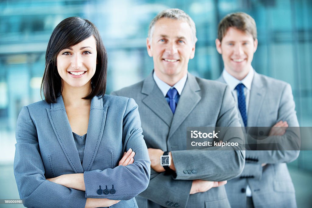
POLYGON ((257 126, 259 113, 263 104, 263 98, 267 88, 262 84, 261 77, 255 71, 254 78, 251 83, 249 107, 247 115, 247 126, 257 126))

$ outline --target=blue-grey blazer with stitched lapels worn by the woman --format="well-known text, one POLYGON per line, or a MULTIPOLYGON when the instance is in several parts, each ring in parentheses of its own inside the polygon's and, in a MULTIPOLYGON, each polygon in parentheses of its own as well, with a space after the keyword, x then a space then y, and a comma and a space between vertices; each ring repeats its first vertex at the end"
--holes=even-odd
POLYGON ((137 207, 134 196, 149 183, 150 161, 138 106, 133 99, 105 95, 91 100, 81 164, 62 96, 22 108, 17 119, 14 175, 26 207, 85 207, 86 198, 123 200, 111 207, 137 207), (118 166, 132 148, 134 163, 118 166), (46 178, 84 173, 85 191, 46 178), (115 189, 107 195, 97 191, 115 189), (112 187, 114 186, 114 188, 112 187))

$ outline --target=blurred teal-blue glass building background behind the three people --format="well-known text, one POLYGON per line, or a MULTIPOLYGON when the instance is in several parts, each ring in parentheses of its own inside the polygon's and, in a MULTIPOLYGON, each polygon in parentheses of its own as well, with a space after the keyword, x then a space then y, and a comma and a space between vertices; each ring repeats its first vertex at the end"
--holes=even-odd
MULTIPOLYGON (((109 94, 151 72, 153 60, 145 45, 149 22, 173 7, 187 12, 196 24, 198 41, 189 71, 207 79, 216 79, 223 69, 214 43, 218 22, 230 12, 250 14, 259 41, 253 67, 289 82, 300 126, 312 126, 311 0, 1 0, 0 199, 19 198, 12 166, 16 119, 22 106, 41 100, 45 50, 54 27, 71 16, 97 25, 109 56, 109 94)), ((298 207, 311 207, 312 152, 301 151, 289 168, 298 207)))

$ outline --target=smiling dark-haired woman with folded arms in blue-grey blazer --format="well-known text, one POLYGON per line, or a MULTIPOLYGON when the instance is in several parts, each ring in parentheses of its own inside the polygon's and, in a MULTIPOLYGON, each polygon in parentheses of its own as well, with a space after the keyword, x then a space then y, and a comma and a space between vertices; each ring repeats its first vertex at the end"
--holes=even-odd
POLYGON ((106 71, 94 24, 69 17, 56 26, 45 100, 23 107, 17 119, 14 174, 24 206, 137 207, 134 196, 150 174, 138 106, 105 95, 106 71))

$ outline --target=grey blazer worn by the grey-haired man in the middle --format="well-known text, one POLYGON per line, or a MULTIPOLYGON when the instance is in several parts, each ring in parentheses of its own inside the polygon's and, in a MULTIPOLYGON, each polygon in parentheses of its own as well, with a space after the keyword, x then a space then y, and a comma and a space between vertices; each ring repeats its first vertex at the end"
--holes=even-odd
POLYGON ((174 115, 152 73, 113 94, 137 102, 147 147, 171 151, 176 168, 176 176, 151 170, 148 188, 136 197, 140 208, 230 207, 224 186, 193 195, 189 192, 192 180, 223 181, 239 175, 244 167, 244 151, 186 150, 187 127, 240 125, 227 85, 188 73, 174 115))

